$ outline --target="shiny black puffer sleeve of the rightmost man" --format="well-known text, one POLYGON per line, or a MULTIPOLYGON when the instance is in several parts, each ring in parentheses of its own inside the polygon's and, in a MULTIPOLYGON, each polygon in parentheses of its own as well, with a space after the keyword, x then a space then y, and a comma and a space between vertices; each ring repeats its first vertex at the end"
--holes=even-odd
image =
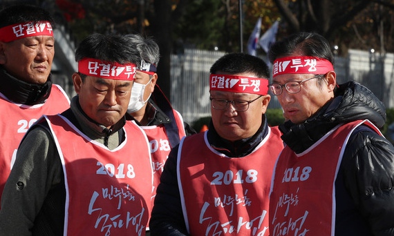
POLYGON ((341 163, 344 185, 373 235, 394 235, 394 147, 372 130, 349 139, 341 163))

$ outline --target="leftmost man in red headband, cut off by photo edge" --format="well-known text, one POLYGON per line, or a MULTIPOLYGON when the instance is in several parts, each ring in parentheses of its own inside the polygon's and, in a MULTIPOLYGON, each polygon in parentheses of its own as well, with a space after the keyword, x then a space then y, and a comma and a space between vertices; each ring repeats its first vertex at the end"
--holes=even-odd
POLYGON ((50 14, 36 6, 0 12, 0 197, 28 128, 41 115, 70 107, 66 92, 51 80, 54 28, 50 14))

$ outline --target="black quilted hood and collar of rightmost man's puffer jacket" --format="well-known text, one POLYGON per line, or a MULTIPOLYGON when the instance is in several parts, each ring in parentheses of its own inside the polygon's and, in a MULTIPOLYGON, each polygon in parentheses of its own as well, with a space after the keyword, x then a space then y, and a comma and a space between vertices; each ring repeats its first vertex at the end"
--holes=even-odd
POLYGON ((334 99, 328 101, 315 115, 302 124, 286 121, 279 126, 281 138, 295 153, 302 153, 321 139, 337 124, 368 119, 378 128, 386 122, 382 101, 359 83, 349 81, 335 90, 334 99))

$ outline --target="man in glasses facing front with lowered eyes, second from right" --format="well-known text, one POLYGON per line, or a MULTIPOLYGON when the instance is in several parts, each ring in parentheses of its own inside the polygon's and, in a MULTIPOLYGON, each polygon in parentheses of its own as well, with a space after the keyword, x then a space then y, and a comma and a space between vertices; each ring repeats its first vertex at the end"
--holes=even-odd
POLYGON ((232 53, 210 72, 212 121, 171 150, 151 235, 268 235, 268 193, 283 148, 264 115, 268 67, 258 57, 232 53))

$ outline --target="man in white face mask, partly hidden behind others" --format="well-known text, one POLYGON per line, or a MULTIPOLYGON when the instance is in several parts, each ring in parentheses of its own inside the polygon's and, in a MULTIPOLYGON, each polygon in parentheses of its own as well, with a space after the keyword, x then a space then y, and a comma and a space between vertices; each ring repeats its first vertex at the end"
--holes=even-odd
POLYGON ((126 119, 135 121, 147 134, 151 145, 153 167, 152 206, 160 176, 171 148, 179 144, 185 135, 196 133, 183 121, 182 115, 173 109, 169 100, 157 85, 156 68, 160 59, 159 46, 152 38, 142 35, 126 35, 130 46, 138 49, 141 65, 135 73, 126 119))

